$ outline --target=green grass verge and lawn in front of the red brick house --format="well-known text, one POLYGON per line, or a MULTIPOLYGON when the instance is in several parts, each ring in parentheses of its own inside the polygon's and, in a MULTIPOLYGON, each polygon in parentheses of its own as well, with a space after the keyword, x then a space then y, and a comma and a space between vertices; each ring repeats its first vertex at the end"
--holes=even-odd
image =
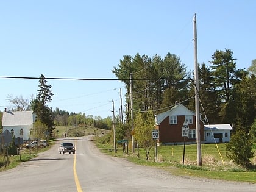
MULTIPOLYGON (((135 153, 123 155, 123 148, 118 144, 117 153, 112 144, 101 144, 96 142, 96 146, 105 154, 114 157, 127 158, 130 162, 144 166, 155 166, 176 175, 205 177, 209 179, 230 180, 236 182, 256 183, 256 157, 252 158, 251 169, 244 169, 235 165, 226 157, 226 144, 202 144, 202 166, 197 166, 196 144, 185 146, 185 162, 183 162, 183 146, 158 146, 158 161, 155 162, 155 149, 152 148, 149 160, 146 161, 144 149, 135 149, 135 153), (139 157, 138 157, 139 154, 139 157)), ((129 145, 130 148, 130 145, 129 145)), ((255 145, 254 145, 255 150, 255 145)))

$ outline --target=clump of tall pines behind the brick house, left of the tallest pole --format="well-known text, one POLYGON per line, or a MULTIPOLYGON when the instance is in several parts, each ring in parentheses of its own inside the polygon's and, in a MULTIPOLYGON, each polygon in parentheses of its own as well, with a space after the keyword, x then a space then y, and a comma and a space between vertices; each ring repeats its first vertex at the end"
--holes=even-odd
POLYGON ((118 66, 119 68, 114 68, 112 73, 126 84, 128 122, 130 120, 130 74, 132 74, 133 109, 135 110, 156 110, 165 107, 162 105, 163 93, 168 89, 179 91, 179 98, 175 100, 187 99, 188 73, 177 55, 168 53, 164 59, 154 55, 152 60, 147 55, 136 54, 133 58, 124 56, 124 60, 120 60, 118 66))

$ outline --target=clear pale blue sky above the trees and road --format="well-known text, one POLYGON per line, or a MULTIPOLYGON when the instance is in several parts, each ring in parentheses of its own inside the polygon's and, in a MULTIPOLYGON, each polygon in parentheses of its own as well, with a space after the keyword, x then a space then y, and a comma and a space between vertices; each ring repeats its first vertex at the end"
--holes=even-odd
MULTIPOLYGON (((256 59, 256 1, 0 1, 0 76, 116 78, 124 55, 180 57, 194 68, 193 16, 198 62, 231 49, 236 68, 256 59)), ((54 110, 112 116, 119 113, 118 81, 48 80, 54 110)), ((38 80, 0 78, 0 110, 8 95, 30 98, 38 80)), ((124 107, 123 107, 124 109, 124 107)))

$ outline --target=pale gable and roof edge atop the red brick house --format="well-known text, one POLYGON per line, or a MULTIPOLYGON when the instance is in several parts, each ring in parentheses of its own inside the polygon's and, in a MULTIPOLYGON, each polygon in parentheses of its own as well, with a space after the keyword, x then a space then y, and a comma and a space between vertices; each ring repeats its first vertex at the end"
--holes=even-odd
POLYGON ((172 115, 195 115, 195 113, 191 112, 191 110, 188 110, 188 108, 184 105, 177 104, 170 110, 155 115, 155 124, 159 125, 160 123, 162 123, 163 120, 165 120, 166 117, 172 115))

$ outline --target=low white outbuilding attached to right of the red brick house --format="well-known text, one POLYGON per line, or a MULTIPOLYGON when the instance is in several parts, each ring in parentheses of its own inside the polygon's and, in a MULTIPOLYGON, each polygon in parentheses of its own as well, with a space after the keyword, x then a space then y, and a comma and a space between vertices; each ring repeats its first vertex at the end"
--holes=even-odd
POLYGON ((205 143, 228 143, 232 130, 230 124, 204 125, 205 143))

